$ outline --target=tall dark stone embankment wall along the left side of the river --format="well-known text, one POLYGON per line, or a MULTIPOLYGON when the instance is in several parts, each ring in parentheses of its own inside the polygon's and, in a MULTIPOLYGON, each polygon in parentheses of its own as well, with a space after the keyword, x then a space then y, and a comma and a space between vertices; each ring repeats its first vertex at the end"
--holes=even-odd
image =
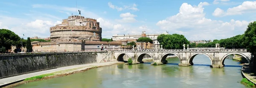
MULTIPOLYGON (((112 52, 39 52, 16 53, 0 55, 0 77, 23 74, 31 71, 80 65, 87 63, 99 63, 105 58, 114 61, 112 52)), ((101 62, 102 63, 102 62, 101 62)))

